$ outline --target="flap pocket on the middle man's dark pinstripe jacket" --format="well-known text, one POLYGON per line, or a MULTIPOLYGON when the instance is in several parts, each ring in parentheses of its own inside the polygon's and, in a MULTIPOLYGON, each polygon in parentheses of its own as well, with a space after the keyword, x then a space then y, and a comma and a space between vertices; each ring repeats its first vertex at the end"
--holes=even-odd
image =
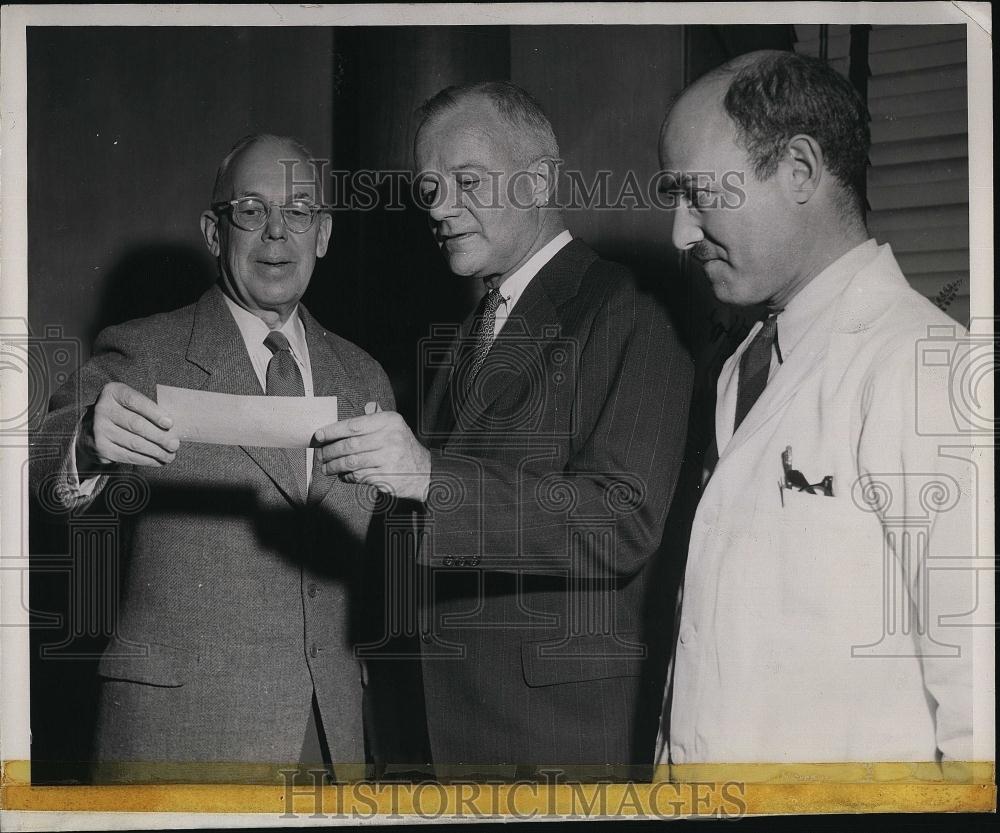
POLYGON ((524 681, 532 688, 637 677, 645 659, 646 646, 635 632, 521 642, 524 681))

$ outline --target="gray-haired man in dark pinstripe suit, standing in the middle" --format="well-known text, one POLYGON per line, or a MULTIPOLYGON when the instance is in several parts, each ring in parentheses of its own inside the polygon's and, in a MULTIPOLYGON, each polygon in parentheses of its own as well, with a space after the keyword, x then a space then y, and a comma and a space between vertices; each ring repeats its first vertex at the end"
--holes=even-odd
POLYGON ((690 363, 665 312, 549 201, 548 119, 506 82, 441 91, 420 189, 479 309, 423 351, 423 442, 396 414, 324 431, 325 470, 418 502, 423 694, 439 777, 628 774, 647 563, 685 435, 690 363))

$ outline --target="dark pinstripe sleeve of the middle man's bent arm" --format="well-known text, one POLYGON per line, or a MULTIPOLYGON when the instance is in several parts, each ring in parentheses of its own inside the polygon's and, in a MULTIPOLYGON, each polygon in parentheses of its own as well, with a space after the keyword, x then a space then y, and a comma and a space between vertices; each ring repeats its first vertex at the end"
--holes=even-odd
POLYGON ((665 311, 627 281, 606 293, 581 341, 568 454, 553 447, 512 461, 432 449, 432 565, 471 557, 486 570, 612 579, 658 547, 683 454, 690 360, 665 311), (453 498, 442 509, 436 490, 453 498))

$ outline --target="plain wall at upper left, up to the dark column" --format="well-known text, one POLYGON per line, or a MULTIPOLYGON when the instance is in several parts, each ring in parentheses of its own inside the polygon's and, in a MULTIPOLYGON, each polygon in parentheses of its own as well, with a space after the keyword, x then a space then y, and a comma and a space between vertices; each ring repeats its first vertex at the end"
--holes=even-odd
POLYGON ((235 139, 329 153, 332 46, 329 29, 29 29, 33 330, 61 325, 86 356, 107 324, 196 298, 215 271, 198 218, 235 139))

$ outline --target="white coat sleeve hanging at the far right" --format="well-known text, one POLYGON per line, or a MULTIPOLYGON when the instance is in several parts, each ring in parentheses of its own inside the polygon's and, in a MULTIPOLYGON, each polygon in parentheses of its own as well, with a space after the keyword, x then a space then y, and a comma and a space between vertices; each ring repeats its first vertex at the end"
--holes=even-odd
POLYGON ((984 613, 982 578, 970 564, 974 465, 962 443, 934 433, 934 426, 954 423, 947 368, 924 366, 914 348, 910 341, 885 356, 864 392, 858 471, 873 494, 883 489, 877 511, 917 623, 914 650, 938 750, 944 760, 971 761, 976 628, 967 620, 984 613))

